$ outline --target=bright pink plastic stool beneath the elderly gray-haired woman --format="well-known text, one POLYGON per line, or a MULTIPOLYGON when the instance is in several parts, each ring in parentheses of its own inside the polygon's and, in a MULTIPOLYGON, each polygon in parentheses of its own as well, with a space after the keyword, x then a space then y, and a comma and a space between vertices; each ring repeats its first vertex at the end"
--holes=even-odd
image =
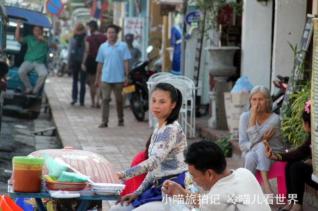
MULTIPOLYGON (((277 178, 278 194, 286 197, 286 182, 285 182, 285 165, 287 162, 276 162, 270 166, 268 179, 277 178)), ((263 179, 258 171, 255 175, 259 185, 262 185, 263 179)))

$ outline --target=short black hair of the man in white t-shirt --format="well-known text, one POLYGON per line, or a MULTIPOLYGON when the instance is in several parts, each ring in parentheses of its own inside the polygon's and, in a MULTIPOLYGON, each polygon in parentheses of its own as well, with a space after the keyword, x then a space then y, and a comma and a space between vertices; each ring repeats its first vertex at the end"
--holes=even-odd
POLYGON ((184 150, 183 154, 184 161, 203 174, 208 169, 222 174, 227 167, 223 151, 217 144, 210 141, 194 142, 184 150))

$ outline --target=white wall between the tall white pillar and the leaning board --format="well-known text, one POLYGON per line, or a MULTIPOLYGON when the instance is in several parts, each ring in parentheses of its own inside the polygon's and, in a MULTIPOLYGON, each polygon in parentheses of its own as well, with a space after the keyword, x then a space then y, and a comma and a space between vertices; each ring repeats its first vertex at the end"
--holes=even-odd
MULTIPOLYGON (((291 74, 294 53, 288 42, 299 46, 306 22, 306 3, 306 0, 276 0, 271 81, 277 80, 278 74, 291 74)), ((273 83, 271 86, 273 92, 273 83)))

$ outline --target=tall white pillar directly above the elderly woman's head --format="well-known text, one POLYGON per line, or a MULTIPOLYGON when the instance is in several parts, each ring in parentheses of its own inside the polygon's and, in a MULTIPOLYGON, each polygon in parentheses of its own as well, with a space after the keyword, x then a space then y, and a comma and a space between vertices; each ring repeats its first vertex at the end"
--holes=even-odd
POLYGON ((271 0, 243 0, 241 76, 254 86, 270 86, 272 12, 271 0))

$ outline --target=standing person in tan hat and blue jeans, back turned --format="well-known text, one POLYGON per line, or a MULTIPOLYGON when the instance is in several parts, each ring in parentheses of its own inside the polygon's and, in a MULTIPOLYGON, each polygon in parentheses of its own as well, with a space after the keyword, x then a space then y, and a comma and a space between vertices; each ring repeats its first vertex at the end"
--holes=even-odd
POLYGON ((69 54, 68 54, 68 65, 72 70, 73 75, 73 89, 72 89, 72 102, 71 105, 76 104, 78 101, 78 81, 80 74, 80 92, 79 92, 79 104, 84 106, 85 98, 85 81, 86 71, 81 69, 81 61, 85 50, 85 36, 86 30, 82 23, 77 23, 74 29, 74 36, 71 38, 69 54))

